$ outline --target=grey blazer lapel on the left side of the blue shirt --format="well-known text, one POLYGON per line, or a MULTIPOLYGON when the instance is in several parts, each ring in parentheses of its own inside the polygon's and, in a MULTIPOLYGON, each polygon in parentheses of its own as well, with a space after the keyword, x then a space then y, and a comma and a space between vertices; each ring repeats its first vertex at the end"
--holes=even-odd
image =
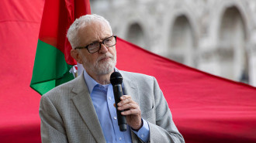
POLYGON ((72 98, 74 105, 78 109, 79 114, 81 114, 81 117, 85 121, 85 124, 88 126, 88 129, 91 131, 95 140, 99 143, 106 142, 83 74, 77 78, 78 82, 72 90, 77 94, 72 98))

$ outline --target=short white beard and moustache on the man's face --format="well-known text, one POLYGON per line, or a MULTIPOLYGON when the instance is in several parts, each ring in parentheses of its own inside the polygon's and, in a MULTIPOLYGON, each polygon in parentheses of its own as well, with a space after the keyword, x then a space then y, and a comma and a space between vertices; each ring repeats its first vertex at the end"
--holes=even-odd
POLYGON ((111 73, 114 70, 116 66, 116 56, 112 56, 111 53, 106 53, 102 56, 99 56, 95 63, 89 63, 86 57, 84 56, 83 63, 83 66, 86 67, 87 70, 92 71, 96 75, 104 75, 111 73), (100 61, 105 57, 110 57, 108 62, 100 61))

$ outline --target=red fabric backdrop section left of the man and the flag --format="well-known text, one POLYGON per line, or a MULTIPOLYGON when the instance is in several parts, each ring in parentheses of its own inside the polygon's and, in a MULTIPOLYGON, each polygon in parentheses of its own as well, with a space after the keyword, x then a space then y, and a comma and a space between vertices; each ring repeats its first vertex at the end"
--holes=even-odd
POLYGON ((0 142, 40 142, 40 95, 29 83, 43 0, 1 0, 0 9, 0 142))

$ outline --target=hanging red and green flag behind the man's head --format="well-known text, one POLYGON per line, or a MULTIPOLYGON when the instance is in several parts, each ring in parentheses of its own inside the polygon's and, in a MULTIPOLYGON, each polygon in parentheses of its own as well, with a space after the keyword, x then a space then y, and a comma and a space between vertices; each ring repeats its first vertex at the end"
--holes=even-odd
POLYGON ((67 29, 74 19, 90 14, 89 0, 45 0, 30 87, 39 94, 74 79, 67 29))

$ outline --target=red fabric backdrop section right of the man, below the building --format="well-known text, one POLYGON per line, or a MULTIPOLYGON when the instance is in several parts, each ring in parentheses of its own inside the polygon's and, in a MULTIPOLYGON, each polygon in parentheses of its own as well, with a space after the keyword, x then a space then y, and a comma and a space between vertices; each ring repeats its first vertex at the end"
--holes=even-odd
POLYGON ((187 143, 256 142, 256 88, 215 77, 118 39, 117 67, 157 78, 187 143))

